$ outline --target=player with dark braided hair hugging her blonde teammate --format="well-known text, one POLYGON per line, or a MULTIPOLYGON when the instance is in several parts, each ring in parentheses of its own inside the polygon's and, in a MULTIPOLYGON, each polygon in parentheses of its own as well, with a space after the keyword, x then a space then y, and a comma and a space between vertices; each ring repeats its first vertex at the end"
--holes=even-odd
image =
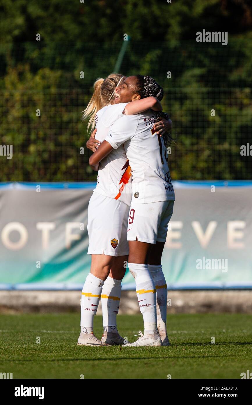
MULTIPOLYGON (((162 98, 163 89, 154 79, 137 75, 125 79, 119 93, 124 102, 131 94, 138 94, 143 100, 153 94, 162 98)), ((141 333, 138 341, 125 346, 169 345, 166 332, 167 286, 161 255, 175 197, 167 149, 163 138, 157 136, 154 125, 155 113, 151 111, 119 118, 89 159, 89 164, 95 166, 104 156, 109 156, 111 150, 124 145, 132 170, 132 201, 127 230, 128 267, 136 281, 144 335, 141 333)))

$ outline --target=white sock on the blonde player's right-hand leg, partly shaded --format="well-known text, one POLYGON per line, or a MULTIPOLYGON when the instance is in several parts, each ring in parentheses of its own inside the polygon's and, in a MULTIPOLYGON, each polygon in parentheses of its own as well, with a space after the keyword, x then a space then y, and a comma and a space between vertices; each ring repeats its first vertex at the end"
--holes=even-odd
POLYGON ((102 320, 105 332, 118 333, 116 326, 116 315, 119 311, 121 298, 122 280, 108 277, 102 287, 102 320))

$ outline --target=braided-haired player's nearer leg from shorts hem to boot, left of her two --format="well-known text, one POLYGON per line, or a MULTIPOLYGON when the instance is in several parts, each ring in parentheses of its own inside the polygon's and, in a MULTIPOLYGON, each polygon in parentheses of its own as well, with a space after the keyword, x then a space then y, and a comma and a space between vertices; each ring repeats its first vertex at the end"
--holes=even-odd
POLYGON ((162 342, 157 329, 156 290, 148 270, 148 255, 152 245, 150 243, 129 241, 129 271, 136 281, 136 292, 140 311, 144 318, 144 335, 134 343, 123 347, 161 346, 162 342))

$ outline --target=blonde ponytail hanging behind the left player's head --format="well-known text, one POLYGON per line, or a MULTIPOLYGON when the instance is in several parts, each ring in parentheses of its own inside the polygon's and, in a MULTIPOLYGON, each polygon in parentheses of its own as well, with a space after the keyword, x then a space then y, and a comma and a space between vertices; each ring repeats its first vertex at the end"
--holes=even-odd
POLYGON ((97 111, 99 111, 102 108, 101 87, 103 82, 104 79, 102 79, 101 77, 95 80, 95 83, 93 85, 94 88, 93 96, 91 97, 91 100, 87 104, 87 108, 84 111, 82 111, 83 112, 82 121, 84 121, 84 119, 87 119, 89 117, 87 130, 90 129, 90 132, 93 132, 95 128, 95 115, 97 111))

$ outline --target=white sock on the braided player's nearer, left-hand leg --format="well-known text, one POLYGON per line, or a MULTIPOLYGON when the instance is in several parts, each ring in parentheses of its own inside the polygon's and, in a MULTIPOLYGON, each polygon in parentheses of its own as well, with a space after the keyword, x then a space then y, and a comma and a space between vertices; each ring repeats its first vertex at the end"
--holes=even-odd
POLYGON ((156 290, 148 270, 148 264, 128 263, 136 281, 140 311, 144 318, 144 334, 157 333, 156 290))

